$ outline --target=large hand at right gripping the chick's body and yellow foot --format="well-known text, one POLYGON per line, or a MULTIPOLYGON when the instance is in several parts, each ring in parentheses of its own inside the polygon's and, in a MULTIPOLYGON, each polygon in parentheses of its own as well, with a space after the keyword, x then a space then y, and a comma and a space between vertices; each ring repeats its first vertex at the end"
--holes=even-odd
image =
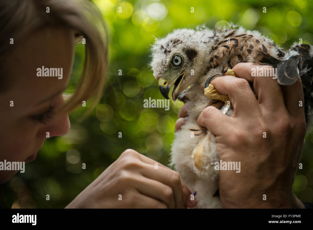
POLYGON ((280 86, 272 77, 252 77, 252 68, 256 65, 239 63, 233 68, 238 78, 212 81, 229 96, 232 117, 209 106, 197 120, 215 135, 223 162, 241 162, 240 173, 219 172, 223 207, 304 207, 292 193, 306 132, 301 80, 280 86))

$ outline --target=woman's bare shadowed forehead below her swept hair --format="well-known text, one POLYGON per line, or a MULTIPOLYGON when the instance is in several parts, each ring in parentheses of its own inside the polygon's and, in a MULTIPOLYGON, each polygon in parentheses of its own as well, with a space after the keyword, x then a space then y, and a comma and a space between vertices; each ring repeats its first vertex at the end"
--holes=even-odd
POLYGON ((21 103, 36 103, 68 83, 74 55, 74 32, 47 27, 14 42, 5 62, 12 81, 8 93, 21 103))

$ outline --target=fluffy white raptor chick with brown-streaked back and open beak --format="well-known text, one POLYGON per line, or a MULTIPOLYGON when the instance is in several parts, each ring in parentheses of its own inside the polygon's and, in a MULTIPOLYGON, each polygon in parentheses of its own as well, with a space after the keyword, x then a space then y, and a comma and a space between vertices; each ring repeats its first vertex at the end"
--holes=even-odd
POLYGON ((241 62, 269 64, 277 68, 276 77, 282 85, 291 85, 300 76, 305 118, 307 126, 311 124, 312 46, 294 43, 285 51, 258 31, 235 26, 213 31, 201 26, 196 30, 174 30, 159 39, 158 44, 152 46, 151 53, 150 66, 162 95, 168 98, 174 85, 173 101, 178 98, 191 104, 186 123, 175 134, 171 164, 190 191, 197 192, 198 208, 222 207, 218 196, 218 171, 214 169, 214 163, 219 161, 215 137, 196 124, 199 114, 208 105, 221 109, 225 104, 222 99, 204 95, 210 76, 217 73, 234 75, 231 69, 241 62), (191 138, 191 132, 194 138, 191 138))

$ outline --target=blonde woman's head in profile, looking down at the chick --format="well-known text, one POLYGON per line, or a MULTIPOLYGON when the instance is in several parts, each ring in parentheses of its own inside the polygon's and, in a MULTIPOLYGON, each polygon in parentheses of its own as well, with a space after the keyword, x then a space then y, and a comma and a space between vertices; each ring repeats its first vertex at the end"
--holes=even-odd
MULTIPOLYGON (((69 131, 68 111, 101 97, 108 32, 98 9, 80 0, 0 2, 0 162, 29 162, 45 139, 69 131), (80 82, 68 101, 75 42, 84 38, 80 82)), ((16 173, 0 171, 0 183, 16 173)))

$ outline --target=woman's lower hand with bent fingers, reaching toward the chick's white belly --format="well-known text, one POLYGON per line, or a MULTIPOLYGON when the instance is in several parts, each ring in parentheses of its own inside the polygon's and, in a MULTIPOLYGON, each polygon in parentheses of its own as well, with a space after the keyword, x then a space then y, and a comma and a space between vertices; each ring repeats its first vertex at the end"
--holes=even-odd
POLYGON ((191 194, 177 172, 127 149, 67 208, 191 208, 191 194))

